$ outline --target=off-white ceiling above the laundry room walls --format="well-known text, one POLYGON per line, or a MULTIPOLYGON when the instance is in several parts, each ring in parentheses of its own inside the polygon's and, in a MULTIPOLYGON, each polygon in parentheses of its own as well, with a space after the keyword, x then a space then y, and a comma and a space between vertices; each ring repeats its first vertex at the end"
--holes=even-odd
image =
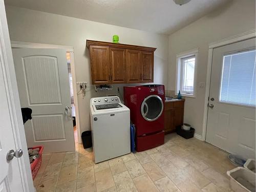
POLYGON ((6 0, 6 5, 171 34, 231 0, 6 0))

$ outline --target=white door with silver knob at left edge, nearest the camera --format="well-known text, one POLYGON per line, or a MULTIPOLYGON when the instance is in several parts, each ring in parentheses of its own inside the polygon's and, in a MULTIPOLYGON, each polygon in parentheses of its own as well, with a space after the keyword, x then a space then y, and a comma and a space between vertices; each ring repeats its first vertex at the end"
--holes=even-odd
POLYGON ((34 191, 3 0, 0 0, 0 39, 0 191, 34 191), (19 148, 23 156, 8 161, 8 151, 19 148))

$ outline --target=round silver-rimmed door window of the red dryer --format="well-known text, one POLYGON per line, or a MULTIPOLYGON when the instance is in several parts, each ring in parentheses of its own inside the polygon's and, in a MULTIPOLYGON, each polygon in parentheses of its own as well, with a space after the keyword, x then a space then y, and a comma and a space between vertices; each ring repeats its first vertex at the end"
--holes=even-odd
POLYGON ((150 95, 142 102, 140 111, 144 119, 155 121, 163 113, 163 101, 157 95, 150 95))

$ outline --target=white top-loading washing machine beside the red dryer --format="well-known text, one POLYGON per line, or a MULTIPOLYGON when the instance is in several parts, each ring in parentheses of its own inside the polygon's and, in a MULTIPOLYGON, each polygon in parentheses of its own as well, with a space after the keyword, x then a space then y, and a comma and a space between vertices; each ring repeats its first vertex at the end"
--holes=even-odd
POLYGON ((91 98, 90 108, 95 163, 131 153, 130 109, 117 96, 91 98))

